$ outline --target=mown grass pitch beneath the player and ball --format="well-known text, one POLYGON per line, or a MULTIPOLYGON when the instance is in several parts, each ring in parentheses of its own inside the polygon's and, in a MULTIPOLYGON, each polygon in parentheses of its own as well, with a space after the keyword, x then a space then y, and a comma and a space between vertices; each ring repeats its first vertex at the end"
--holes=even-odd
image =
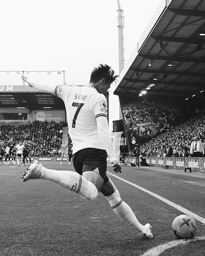
MULTIPOLYGON (((46 168, 74 170, 73 165, 42 162, 46 168)), ((205 226, 197 221, 192 240, 179 240, 172 221, 182 214, 171 205, 110 174, 121 198, 142 224, 153 227, 154 239, 145 240, 121 221, 100 193, 83 200, 47 180, 22 182, 26 166, 0 165, 0 255, 2 256, 204 256, 205 226)), ((205 218, 205 175, 153 167, 123 166, 117 174, 205 218)), ((109 174, 110 173, 110 174, 109 174)))

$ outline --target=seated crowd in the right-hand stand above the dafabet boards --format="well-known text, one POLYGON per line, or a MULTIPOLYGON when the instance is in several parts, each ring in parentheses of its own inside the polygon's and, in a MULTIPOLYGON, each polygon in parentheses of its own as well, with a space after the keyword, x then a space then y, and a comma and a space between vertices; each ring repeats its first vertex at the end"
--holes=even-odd
MULTIPOLYGON (((201 140, 205 148, 205 111, 189 120, 172 127, 169 131, 152 138, 140 146, 140 151, 146 156, 191 156, 190 147, 193 138, 201 140)), ((205 157, 205 156, 203 156, 205 157)))

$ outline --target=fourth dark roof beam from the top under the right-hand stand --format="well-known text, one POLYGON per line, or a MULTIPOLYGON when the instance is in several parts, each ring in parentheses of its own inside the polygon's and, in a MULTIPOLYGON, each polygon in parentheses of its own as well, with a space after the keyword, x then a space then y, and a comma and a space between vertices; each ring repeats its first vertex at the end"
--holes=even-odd
POLYGON ((176 75, 176 76, 196 76, 196 77, 205 77, 205 73, 194 73, 189 71, 172 71, 172 70, 154 70, 148 68, 130 68, 135 72, 148 73, 148 74, 167 74, 167 75, 176 75))

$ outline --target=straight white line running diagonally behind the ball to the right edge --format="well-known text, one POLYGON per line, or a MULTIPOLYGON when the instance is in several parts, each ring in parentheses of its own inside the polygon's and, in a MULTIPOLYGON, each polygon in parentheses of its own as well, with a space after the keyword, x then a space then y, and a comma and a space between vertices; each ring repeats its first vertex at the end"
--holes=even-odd
MULTIPOLYGON (((108 172, 107 172, 107 173, 108 173, 108 172)), ((191 216, 192 218, 194 218, 194 219, 196 219, 196 220, 202 222, 203 224, 205 224, 205 218, 202 218, 202 217, 200 217, 199 215, 194 214, 194 213, 188 211, 187 209, 183 208, 182 206, 180 206, 180 205, 178 205, 178 204, 176 204, 176 203, 173 203, 173 202, 167 200, 166 198, 164 198, 164 197, 162 197, 162 196, 159 196, 159 195, 157 195, 157 194, 155 194, 155 193, 152 193, 151 191, 149 191, 149 190, 147 190, 147 189, 144 189, 144 188, 142 188, 142 187, 140 187, 140 186, 138 186, 138 185, 136 185, 136 184, 134 184, 134 183, 132 183, 132 182, 129 182, 128 180, 125 180, 125 179, 123 179, 123 178, 120 178, 120 177, 118 177, 118 176, 115 175, 115 174, 112 174, 112 173, 108 173, 108 174, 110 174, 110 175, 112 175, 112 176, 114 176, 114 177, 116 177, 116 178, 118 178, 118 179, 120 179, 120 180, 122 180, 122 181, 124 181, 124 182, 126 182, 126 183, 128 183, 128 184, 130 184, 130 185, 132 185, 132 186, 134 186, 135 188, 138 188, 138 189, 140 189, 140 190, 142 190, 142 191, 144 191, 144 192, 150 194, 151 196, 154 196, 154 197, 160 199, 161 201, 163 201, 163 202, 165 202, 165 203, 171 205, 172 207, 176 208, 177 210, 179 210, 179 211, 185 213, 186 215, 189 215, 189 216, 191 216)))

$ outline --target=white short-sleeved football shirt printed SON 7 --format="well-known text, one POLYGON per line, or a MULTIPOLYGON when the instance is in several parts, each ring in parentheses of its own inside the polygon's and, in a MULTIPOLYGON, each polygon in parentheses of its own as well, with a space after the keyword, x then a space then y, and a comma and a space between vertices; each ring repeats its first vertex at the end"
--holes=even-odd
POLYGON ((92 86, 57 86, 55 94, 65 103, 73 154, 87 147, 105 150, 96 121, 100 115, 107 117, 105 96, 92 86))

